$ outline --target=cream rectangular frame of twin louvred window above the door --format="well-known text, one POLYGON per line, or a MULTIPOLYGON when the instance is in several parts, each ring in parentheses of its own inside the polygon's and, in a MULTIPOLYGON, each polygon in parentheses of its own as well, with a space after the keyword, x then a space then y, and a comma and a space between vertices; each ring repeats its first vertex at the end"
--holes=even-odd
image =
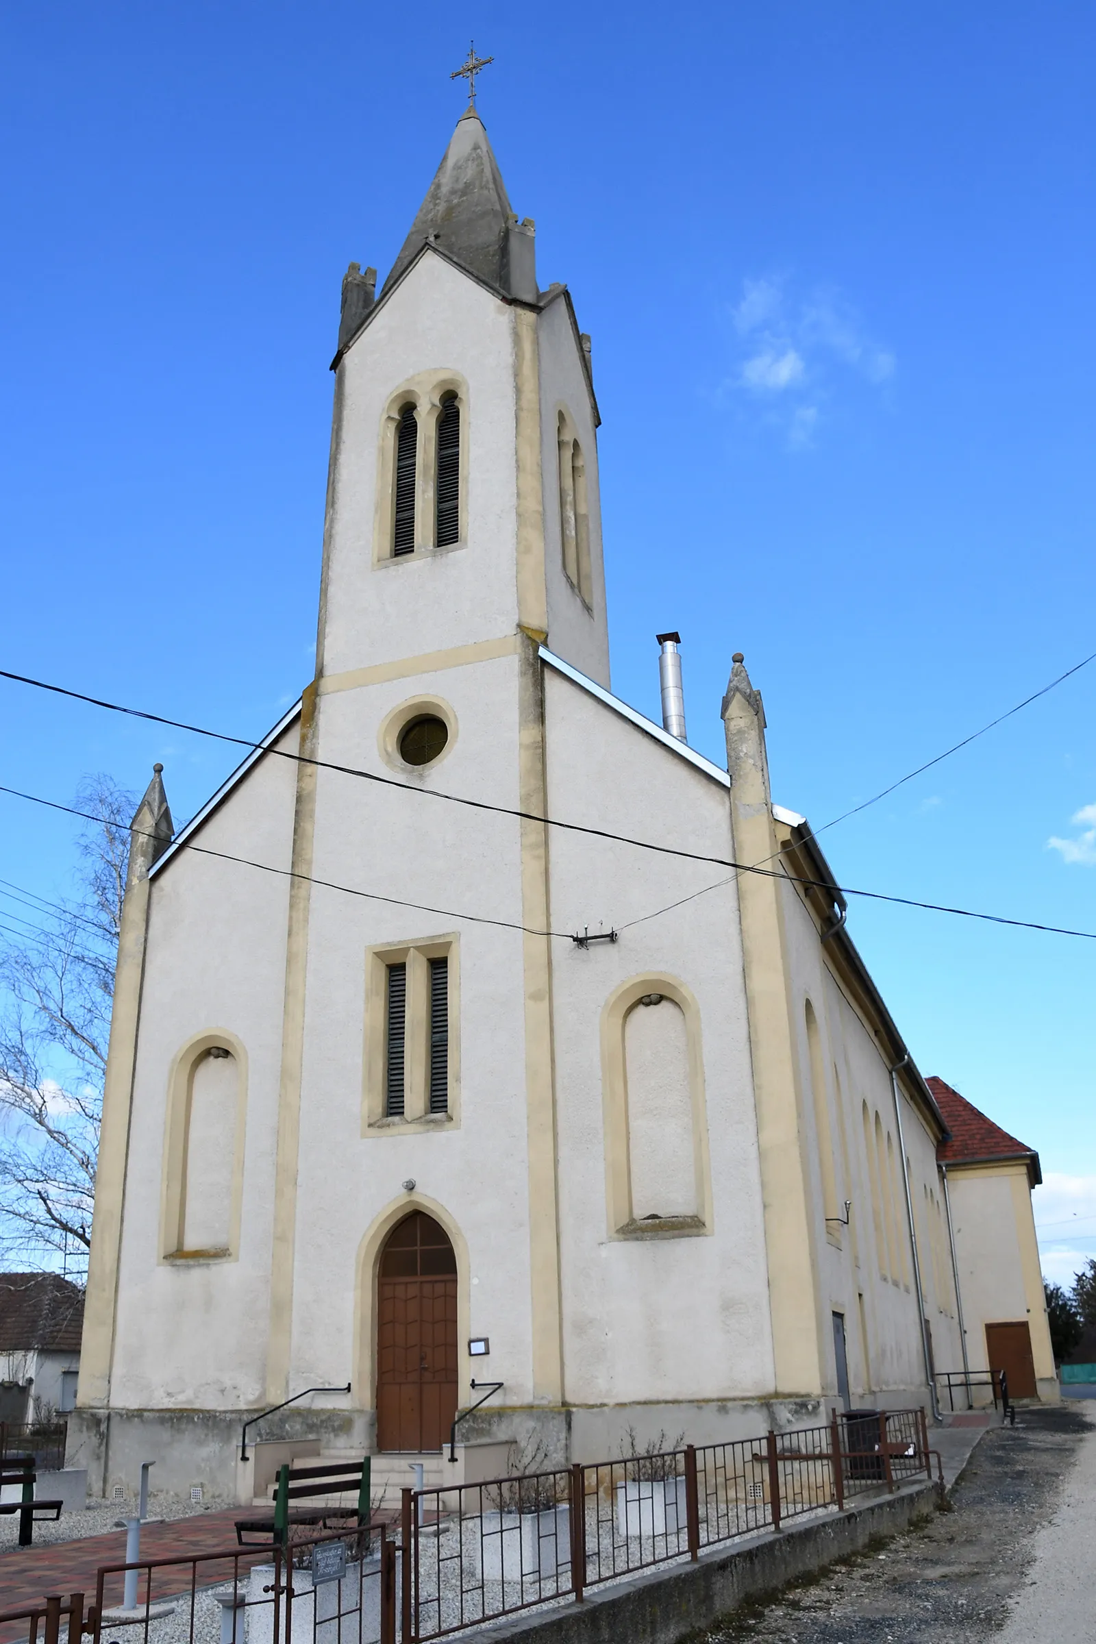
POLYGON ((361 1134, 445 1134, 460 1129, 460 935, 381 942, 365 950, 365 1055, 361 1059, 361 1134), (431 981, 427 960, 449 958, 449 1113, 429 1113, 431 981), (404 1116, 385 1113, 385 1016, 388 967, 408 965, 408 1054, 404 1116))

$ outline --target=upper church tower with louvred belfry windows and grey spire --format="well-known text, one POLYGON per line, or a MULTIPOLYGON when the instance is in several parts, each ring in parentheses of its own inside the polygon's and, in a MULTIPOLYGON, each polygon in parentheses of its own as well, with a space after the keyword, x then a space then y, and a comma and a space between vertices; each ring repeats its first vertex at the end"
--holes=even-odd
POLYGON ((375 279, 343 283, 317 677, 524 630, 608 687, 590 339, 473 105, 375 279))

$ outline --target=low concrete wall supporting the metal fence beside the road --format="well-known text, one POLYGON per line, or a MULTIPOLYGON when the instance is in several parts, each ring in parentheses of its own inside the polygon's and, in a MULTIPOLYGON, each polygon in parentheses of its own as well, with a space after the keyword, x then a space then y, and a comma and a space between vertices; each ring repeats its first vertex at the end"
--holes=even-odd
POLYGON ((815 1524, 735 1542, 733 1549, 703 1554, 697 1563, 651 1572, 618 1586, 593 1588, 582 1605, 495 1623, 468 1634, 468 1644, 684 1644, 746 1598, 776 1591, 861 1552, 874 1535, 897 1535, 935 1506, 930 1485, 915 1485, 871 1506, 833 1514, 815 1524))

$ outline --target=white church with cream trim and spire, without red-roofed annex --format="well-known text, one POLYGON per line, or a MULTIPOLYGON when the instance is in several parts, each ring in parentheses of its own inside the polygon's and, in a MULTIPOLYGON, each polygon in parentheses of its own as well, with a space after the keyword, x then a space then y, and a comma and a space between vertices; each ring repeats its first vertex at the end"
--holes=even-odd
POLYGON ((462 1437, 559 1462, 963 1363, 946 1124, 741 658, 726 769, 611 695, 590 345, 534 243, 470 109, 343 283, 315 677, 181 834, 159 771, 135 819, 94 1491, 156 1455, 246 1496, 242 1422, 311 1388, 261 1435, 437 1452, 495 1381, 462 1437))

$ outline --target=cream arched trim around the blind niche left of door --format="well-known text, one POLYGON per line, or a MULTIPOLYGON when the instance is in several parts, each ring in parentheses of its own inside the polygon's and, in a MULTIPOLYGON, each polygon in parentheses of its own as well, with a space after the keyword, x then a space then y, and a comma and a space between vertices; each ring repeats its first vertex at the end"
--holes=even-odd
POLYGON ((171 1059, 168 1074, 168 1113, 164 1123, 164 1159, 159 1177, 159 1259, 163 1261, 237 1261, 240 1256, 240 1221, 243 1213, 243 1144, 248 1110, 248 1054, 243 1041, 228 1028, 210 1028, 194 1034, 171 1059), (237 1064, 237 1120, 232 1144, 232 1203, 228 1210, 228 1245, 217 1251, 186 1249, 187 1124, 194 1069, 215 1046, 232 1051, 237 1064))

